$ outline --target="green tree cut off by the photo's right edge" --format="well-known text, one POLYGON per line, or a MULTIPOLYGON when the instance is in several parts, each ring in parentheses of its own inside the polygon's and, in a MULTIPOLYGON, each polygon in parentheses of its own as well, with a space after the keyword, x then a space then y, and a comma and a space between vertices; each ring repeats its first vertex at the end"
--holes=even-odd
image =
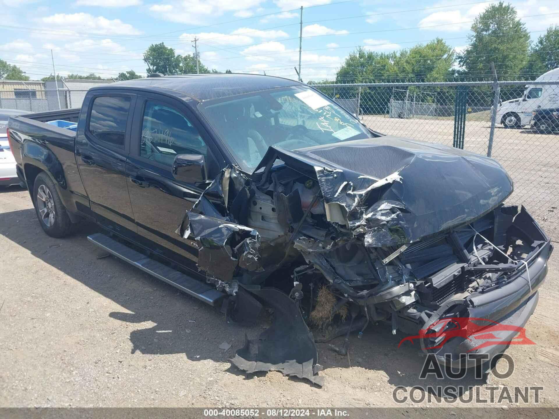
POLYGON ((549 70, 559 67, 559 26, 550 26, 532 46, 524 74, 535 79, 549 70))

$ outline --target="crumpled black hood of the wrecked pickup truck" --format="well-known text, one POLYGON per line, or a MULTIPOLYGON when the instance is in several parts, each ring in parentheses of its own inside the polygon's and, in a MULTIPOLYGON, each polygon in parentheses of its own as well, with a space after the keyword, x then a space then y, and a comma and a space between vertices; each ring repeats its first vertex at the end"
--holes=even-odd
POLYGON ((497 161, 439 144, 384 136, 284 150, 271 161, 318 179, 329 221, 366 246, 395 246, 471 222, 513 192, 497 161))

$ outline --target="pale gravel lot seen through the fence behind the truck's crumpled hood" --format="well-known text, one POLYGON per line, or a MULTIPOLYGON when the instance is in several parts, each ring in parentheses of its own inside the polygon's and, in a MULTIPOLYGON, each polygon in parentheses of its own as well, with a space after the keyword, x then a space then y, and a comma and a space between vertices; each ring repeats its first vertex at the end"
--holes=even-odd
MULTIPOLYGON (((475 121, 475 115, 468 115, 470 120, 466 121, 464 149, 485 155, 490 123, 475 121)), ((452 146, 452 119, 365 115, 363 122, 384 134, 452 146)), ((538 134, 526 128, 509 130, 498 125, 491 156, 514 180, 515 191, 508 202, 527 206, 549 235, 559 237, 559 134, 538 134)))

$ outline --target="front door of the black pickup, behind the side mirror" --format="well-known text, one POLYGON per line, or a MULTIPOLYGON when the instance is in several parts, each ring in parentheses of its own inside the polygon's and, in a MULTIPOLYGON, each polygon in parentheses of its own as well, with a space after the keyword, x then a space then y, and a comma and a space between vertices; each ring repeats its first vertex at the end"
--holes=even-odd
POLYGON ((200 198, 223 163, 214 144, 181 101, 140 93, 126 165, 130 201, 143 244, 197 272, 196 242, 175 232, 184 213, 200 198), (202 154, 208 182, 185 184, 173 178, 178 154, 202 154))

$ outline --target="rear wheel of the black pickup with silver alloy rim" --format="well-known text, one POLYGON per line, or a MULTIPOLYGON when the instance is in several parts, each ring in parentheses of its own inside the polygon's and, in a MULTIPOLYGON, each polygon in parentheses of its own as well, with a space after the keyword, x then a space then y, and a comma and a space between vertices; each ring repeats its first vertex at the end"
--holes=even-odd
POLYGON ((72 230, 72 221, 62 204, 54 182, 45 172, 35 178, 33 184, 33 203, 39 223, 51 237, 67 236, 72 230))

